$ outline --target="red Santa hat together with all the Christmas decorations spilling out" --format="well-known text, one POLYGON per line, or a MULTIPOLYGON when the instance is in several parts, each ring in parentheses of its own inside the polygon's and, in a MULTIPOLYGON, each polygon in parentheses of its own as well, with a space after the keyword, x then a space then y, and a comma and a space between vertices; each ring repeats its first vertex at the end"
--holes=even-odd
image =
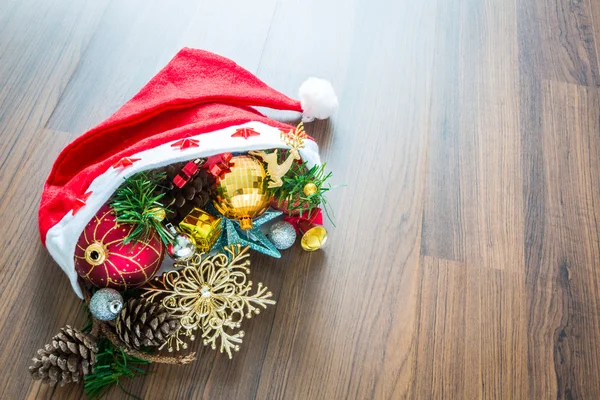
POLYGON ((187 364, 196 339, 227 354, 273 294, 250 254, 320 249, 331 173, 303 122, 328 118, 331 85, 300 101, 232 61, 183 49, 112 117, 71 143, 46 182, 41 238, 90 311, 38 352, 32 376, 101 396, 143 364, 187 364), (302 112, 290 126, 254 106, 302 112))

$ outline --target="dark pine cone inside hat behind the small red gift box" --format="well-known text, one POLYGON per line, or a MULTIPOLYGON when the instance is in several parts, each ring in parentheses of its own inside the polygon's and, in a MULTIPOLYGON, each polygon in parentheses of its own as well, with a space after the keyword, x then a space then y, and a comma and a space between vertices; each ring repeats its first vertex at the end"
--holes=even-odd
POLYGON ((185 164, 171 164, 164 169, 167 173, 167 181, 164 184, 167 190, 162 203, 170 209, 167 219, 175 225, 179 224, 192 208, 203 208, 213 193, 214 177, 205 168, 200 168, 198 174, 183 188, 180 189, 173 184, 173 178, 185 164))

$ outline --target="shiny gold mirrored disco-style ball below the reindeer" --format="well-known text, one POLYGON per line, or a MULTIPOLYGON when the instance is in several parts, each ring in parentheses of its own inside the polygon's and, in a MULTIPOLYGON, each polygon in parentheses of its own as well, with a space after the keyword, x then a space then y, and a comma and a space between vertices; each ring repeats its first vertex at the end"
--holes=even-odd
POLYGON ((269 208, 267 173, 251 156, 235 156, 230 163, 230 172, 217 180, 213 205, 226 218, 239 221, 240 228, 249 230, 252 219, 269 208))

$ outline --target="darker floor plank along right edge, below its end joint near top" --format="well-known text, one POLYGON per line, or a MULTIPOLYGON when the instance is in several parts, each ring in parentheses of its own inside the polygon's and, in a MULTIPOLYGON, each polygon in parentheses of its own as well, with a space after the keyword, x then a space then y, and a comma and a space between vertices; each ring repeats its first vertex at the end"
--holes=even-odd
POLYGON ((542 82, 543 215, 526 270, 532 393, 595 397, 598 289, 597 89, 542 82), (533 344, 535 343, 535 346, 533 344), (553 366, 554 368, 550 368, 553 366))

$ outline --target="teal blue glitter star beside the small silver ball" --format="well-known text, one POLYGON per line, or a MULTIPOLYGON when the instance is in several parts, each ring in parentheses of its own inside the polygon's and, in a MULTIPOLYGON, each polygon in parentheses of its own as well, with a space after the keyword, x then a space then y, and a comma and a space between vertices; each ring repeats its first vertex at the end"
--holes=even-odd
MULTIPOLYGON (((216 211, 215 211, 216 212, 216 211)), ((281 253, 273 242, 262 232, 261 225, 277 218, 282 214, 281 211, 266 211, 263 215, 252 220, 252 229, 242 230, 240 223, 221 216, 221 237, 213 246, 213 250, 222 247, 239 244, 249 246, 252 250, 266 254, 274 258, 280 258, 281 253)))

